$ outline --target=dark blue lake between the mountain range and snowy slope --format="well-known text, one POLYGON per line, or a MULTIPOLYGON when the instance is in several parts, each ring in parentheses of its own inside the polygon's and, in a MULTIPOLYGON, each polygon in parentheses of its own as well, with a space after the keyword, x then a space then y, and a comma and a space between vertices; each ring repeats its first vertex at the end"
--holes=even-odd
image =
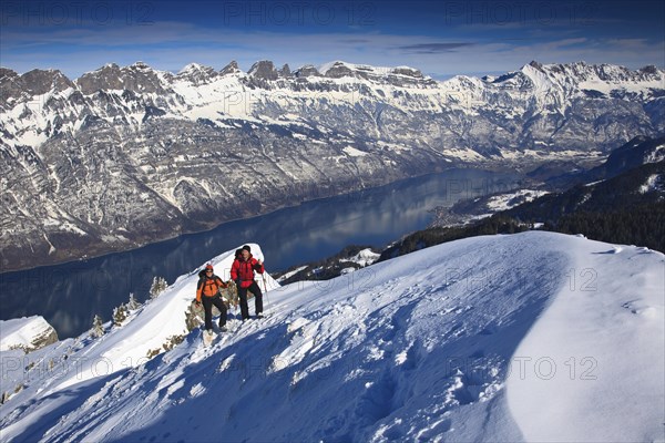
MULTIPOLYGON (((436 206, 518 186, 518 177, 453 169, 379 188, 304 203, 140 249, 0 275, 0 319, 40 315, 60 338, 104 321, 133 292, 147 298, 154 276, 176 277, 245 243, 260 245, 268 272, 331 256, 350 244, 376 247, 424 228, 436 206)), ((194 297, 194 295, 192 295, 194 297)))

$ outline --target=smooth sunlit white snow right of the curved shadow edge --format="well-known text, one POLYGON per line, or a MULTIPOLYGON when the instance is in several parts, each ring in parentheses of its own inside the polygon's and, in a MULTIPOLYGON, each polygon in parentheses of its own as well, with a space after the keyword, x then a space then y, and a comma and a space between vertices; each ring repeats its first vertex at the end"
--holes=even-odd
POLYGON ((511 412, 529 441, 664 441, 663 256, 592 244, 513 357, 511 412))

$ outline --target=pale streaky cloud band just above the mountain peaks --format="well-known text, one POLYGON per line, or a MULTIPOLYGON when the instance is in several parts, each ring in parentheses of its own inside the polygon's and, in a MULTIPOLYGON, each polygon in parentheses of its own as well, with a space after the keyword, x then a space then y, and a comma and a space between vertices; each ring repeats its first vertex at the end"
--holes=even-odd
MULTIPOLYGON (((157 22, 124 29, 7 30, 0 28, 2 65, 18 72, 54 68, 76 78, 109 62, 120 65, 142 60, 172 72, 191 62, 223 68, 236 60, 247 70, 257 60, 288 63, 293 69, 332 60, 377 66, 409 65, 442 79, 457 74, 508 72, 536 60, 543 63, 586 61, 641 68, 662 66, 664 43, 649 39, 586 38, 562 32, 559 38, 531 39, 515 34, 504 38, 478 35, 457 40, 432 35, 365 32, 244 32, 195 27, 190 23, 157 22), (10 43, 11 42, 11 43, 10 43)), ((334 31, 334 30, 331 30, 334 31)))

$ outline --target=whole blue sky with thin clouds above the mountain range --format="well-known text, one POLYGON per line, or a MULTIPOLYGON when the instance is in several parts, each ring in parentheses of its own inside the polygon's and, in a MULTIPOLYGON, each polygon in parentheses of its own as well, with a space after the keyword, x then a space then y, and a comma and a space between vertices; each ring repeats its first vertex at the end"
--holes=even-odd
POLYGON ((665 66, 663 1, 12 1, 0 64, 74 79, 106 63, 177 72, 344 60, 436 79, 497 74, 531 60, 665 66))

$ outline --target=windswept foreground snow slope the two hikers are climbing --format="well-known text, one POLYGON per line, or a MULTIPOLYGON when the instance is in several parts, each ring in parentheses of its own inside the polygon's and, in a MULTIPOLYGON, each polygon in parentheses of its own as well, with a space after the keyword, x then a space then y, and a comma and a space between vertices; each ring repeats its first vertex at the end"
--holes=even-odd
MULTIPOLYGON (((28 371, 0 408, 1 439, 663 441, 664 258, 523 233, 275 288, 267 318, 232 319, 208 348, 195 330, 78 383, 28 371)), ((147 312, 71 356, 131 347, 147 312)))

